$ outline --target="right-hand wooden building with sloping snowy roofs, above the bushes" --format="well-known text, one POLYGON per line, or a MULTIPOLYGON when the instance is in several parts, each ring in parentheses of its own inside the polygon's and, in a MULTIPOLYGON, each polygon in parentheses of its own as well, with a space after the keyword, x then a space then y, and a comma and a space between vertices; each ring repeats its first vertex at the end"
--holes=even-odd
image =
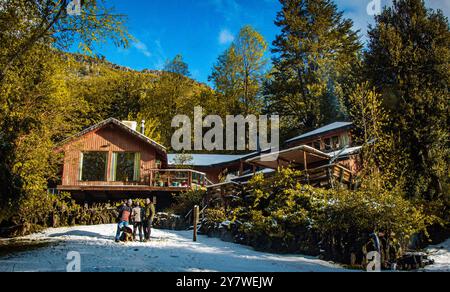
POLYGON ((297 180, 315 187, 333 188, 341 185, 354 189, 361 170, 362 147, 354 146, 352 123, 336 122, 287 140, 281 151, 257 153, 247 157, 245 165, 253 173, 208 187, 211 197, 240 192, 240 187, 256 174, 270 180, 279 168, 291 167, 303 172, 297 180))

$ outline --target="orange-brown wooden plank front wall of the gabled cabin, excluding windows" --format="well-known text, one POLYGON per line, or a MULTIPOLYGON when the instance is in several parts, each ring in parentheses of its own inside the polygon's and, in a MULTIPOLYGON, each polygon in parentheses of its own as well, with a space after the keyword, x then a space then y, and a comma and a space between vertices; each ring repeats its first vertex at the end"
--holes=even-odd
POLYGON ((160 160, 162 163, 167 160, 159 154, 154 147, 149 146, 147 143, 141 141, 139 138, 114 124, 109 124, 105 127, 89 132, 86 135, 67 143, 63 146, 63 151, 63 186, 123 184, 123 182, 111 181, 112 153, 114 152, 141 153, 141 181, 146 179, 146 171, 157 167, 157 160, 160 160), (92 151, 108 152, 106 171, 107 180, 104 182, 81 182, 79 180, 81 153, 92 151))

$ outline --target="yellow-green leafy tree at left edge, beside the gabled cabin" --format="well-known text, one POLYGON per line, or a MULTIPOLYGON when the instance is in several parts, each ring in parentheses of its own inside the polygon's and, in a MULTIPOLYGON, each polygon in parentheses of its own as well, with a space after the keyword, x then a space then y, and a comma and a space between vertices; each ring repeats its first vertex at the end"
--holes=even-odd
POLYGON ((34 47, 21 67, 0 83, 0 221, 24 196, 38 197, 57 173, 54 141, 77 129, 80 102, 68 93, 66 63, 47 47, 34 47))

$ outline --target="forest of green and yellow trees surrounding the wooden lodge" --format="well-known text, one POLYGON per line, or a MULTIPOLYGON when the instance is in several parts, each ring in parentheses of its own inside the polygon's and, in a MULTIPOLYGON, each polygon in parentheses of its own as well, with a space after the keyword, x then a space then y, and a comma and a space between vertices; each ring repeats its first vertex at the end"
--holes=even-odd
POLYGON ((191 78, 181 54, 159 71, 108 62, 96 44, 130 46, 126 16, 86 0, 74 17, 68 2, 0 3, 0 226, 44 226, 66 200, 47 194, 58 181, 58 142, 114 117, 145 119, 146 135, 170 146, 172 118, 201 105, 205 115, 279 115, 282 139, 353 121, 366 190, 414 206, 410 221, 398 210, 386 220, 411 232, 448 227, 450 30, 442 11, 395 0, 363 44, 334 1, 280 0, 275 41, 244 26, 217 57, 209 86, 191 78))

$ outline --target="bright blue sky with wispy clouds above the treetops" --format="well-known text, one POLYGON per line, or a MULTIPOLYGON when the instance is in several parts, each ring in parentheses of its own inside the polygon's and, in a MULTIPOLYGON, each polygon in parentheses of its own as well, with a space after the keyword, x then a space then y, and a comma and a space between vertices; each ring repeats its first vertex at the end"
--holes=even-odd
MULTIPOLYGON (((373 17, 366 12, 371 0, 336 0, 345 16, 353 19, 365 39, 373 17)), ((128 15, 129 32, 136 41, 127 49, 105 44, 97 49, 118 65, 161 69, 167 59, 183 55, 191 77, 207 82, 217 57, 239 29, 250 24, 272 43, 279 30, 274 25, 278 0, 111 0, 117 13, 128 15)), ((382 0, 383 5, 390 0, 382 0)), ((429 7, 450 15, 450 0, 426 0, 429 7)))

